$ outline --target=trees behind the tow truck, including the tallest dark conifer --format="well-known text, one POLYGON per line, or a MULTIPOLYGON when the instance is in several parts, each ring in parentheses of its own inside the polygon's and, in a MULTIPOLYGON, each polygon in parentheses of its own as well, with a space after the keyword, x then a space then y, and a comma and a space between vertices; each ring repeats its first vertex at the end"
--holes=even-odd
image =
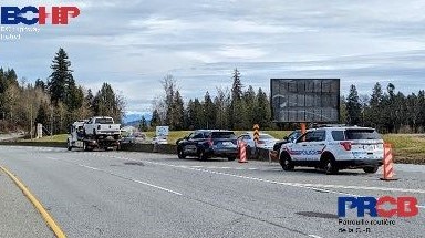
POLYGON ((121 122, 125 101, 108 83, 93 94, 75 83, 71 61, 61 48, 51 64, 52 73, 44 82, 29 83, 13 69, 0 68, 0 132, 25 131, 34 134, 34 125, 43 124, 43 133, 65 133, 76 120, 108 115, 121 122))

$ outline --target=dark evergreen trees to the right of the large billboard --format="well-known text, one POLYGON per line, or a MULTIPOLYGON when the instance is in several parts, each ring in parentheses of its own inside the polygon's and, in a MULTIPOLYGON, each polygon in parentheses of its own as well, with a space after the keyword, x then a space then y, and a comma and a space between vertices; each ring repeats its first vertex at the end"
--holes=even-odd
POLYGON ((424 133, 425 91, 404 95, 388 83, 376 83, 371 95, 359 95, 355 85, 341 99, 341 121, 351 125, 372 126, 381 133, 424 133))

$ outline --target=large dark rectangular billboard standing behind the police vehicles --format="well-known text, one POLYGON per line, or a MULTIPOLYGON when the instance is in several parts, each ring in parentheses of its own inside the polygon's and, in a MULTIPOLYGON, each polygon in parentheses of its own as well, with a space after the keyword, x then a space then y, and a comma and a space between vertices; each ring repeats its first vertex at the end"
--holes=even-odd
POLYGON ((271 79, 274 122, 340 121, 340 79, 271 79))

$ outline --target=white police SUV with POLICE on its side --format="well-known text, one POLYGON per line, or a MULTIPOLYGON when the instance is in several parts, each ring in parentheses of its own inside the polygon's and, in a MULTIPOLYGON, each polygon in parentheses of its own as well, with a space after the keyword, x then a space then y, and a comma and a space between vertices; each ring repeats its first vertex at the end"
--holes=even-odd
POLYGON ((376 173, 383 156, 384 141, 374 128, 333 126, 308 130, 297 141, 283 144, 279 162, 283 170, 308 166, 326 174, 346 168, 376 173))

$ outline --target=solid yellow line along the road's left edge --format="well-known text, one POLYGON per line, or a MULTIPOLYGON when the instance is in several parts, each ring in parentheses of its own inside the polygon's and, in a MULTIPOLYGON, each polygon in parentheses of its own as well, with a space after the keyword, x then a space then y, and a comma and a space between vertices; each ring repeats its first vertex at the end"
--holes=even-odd
POLYGON ((18 185, 18 187, 22 190, 22 193, 30 199, 30 201, 34 205, 35 209, 39 210, 41 216, 43 216, 45 223, 53 230, 54 235, 58 238, 66 238, 65 234, 59 227, 59 225, 53 220, 52 216, 44 209, 43 205, 31 194, 31 192, 8 169, 0 166, 0 168, 9 175, 10 178, 18 185))

